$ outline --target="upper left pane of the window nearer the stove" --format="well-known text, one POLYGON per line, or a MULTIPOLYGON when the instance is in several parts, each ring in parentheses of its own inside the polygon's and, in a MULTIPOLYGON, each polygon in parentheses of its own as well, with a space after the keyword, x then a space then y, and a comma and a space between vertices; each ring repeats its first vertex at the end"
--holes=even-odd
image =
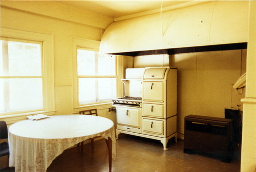
POLYGON ((95 52, 77 50, 77 75, 95 76, 95 52))

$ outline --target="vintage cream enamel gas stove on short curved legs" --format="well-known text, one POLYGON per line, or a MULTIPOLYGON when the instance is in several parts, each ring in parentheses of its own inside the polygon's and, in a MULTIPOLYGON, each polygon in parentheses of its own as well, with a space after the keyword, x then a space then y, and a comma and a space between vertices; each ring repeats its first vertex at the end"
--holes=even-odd
POLYGON ((147 67, 126 69, 125 96, 113 99, 119 133, 177 141, 177 68, 147 67))

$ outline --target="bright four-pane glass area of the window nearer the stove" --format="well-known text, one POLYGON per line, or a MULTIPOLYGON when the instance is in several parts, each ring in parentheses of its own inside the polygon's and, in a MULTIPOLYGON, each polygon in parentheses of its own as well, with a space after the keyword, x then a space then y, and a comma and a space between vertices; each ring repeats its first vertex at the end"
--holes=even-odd
POLYGON ((116 96, 116 57, 77 48, 79 106, 116 96))

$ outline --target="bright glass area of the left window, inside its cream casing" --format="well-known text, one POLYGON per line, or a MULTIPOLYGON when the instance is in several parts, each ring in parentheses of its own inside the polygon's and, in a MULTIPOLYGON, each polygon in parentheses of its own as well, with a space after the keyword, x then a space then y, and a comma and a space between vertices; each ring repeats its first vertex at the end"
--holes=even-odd
POLYGON ((0 46, 0 112, 42 110, 42 44, 1 40, 0 46))

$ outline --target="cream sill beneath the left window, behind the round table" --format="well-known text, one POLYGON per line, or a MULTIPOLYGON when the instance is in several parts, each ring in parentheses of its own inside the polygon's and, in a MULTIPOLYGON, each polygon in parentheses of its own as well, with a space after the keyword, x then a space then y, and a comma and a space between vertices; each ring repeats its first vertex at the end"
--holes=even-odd
POLYGON ((35 112, 27 112, 27 113, 17 113, 17 114, 9 114, 9 115, 0 115, 0 120, 6 121, 7 125, 14 124, 15 122, 18 122, 20 120, 25 120, 27 119, 28 115, 35 115, 43 113, 45 115, 54 115, 55 110, 49 110, 49 111, 35 111, 35 112))

